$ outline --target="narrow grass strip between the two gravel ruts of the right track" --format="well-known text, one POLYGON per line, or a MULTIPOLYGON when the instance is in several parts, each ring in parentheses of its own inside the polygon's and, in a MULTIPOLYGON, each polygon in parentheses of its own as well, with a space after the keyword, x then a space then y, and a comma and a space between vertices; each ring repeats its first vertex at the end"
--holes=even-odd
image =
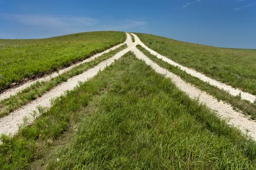
POLYGON ((227 91, 219 89, 216 86, 209 85, 209 83, 204 82, 198 79, 197 77, 193 77, 190 74, 187 74, 186 71, 182 71, 180 70, 180 68, 170 65, 168 62, 165 62, 162 59, 155 57, 153 54, 148 52, 141 45, 137 45, 136 47, 140 51, 142 51, 143 54, 145 54, 148 58, 156 62, 159 66, 166 68, 170 72, 179 76, 184 81, 189 82, 192 85, 195 85, 202 91, 206 91, 210 95, 216 97, 216 99, 218 100, 222 100, 230 103, 233 106, 234 110, 239 109, 244 114, 250 115, 252 119, 254 120, 256 119, 256 105, 254 105, 253 103, 247 100, 243 100, 239 96, 233 96, 229 94, 227 91))

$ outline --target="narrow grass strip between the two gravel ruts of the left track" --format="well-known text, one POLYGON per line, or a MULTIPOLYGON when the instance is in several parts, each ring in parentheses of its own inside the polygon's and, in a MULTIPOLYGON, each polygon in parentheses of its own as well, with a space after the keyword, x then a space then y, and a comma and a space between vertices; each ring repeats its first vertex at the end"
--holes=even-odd
POLYGON ((125 48, 127 48, 127 45, 122 45, 121 47, 116 48, 115 50, 110 51, 106 54, 103 54, 102 56, 97 57, 90 62, 86 62, 75 68, 72 68, 71 70, 59 75, 58 77, 52 78, 50 81, 36 82, 30 87, 18 92, 16 95, 0 101, 0 117, 6 116, 12 111, 25 105, 26 103, 37 99, 50 89, 54 88, 56 85, 61 84, 62 82, 67 81, 67 79, 81 74, 84 71, 87 71, 89 68, 98 65, 100 62, 112 57, 113 55, 115 55, 119 51, 122 51, 125 48))

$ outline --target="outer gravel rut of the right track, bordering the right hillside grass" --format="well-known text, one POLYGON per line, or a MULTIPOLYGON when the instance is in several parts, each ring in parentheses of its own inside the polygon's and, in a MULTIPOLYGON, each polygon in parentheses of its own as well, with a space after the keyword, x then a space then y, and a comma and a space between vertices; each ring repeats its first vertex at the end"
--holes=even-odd
POLYGON ((201 73, 199 73, 199 72, 197 72, 197 71, 195 71, 191 68, 184 67, 184 66, 178 64, 177 62, 174 62, 171 59, 169 59, 167 57, 164 57, 161 54, 158 54, 156 51, 151 50, 145 44, 143 44, 143 42, 140 41, 140 39, 137 37, 137 35, 135 35, 135 34, 132 34, 132 35, 134 36, 135 42, 137 42, 137 44, 140 44, 142 47, 144 47, 146 50, 148 50, 151 54, 155 55, 157 58, 162 59, 165 62, 168 62, 171 65, 180 67, 180 69, 183 70, 183 71, 186 71, 186 73, 191 74, 192 76, 197 77, 197 78, 201 79, 204 82, 208 82, 210 85, 214 85, 214 86, 217 86, 220 89, 224 89, 225 91, 229 91, 229 93, 233 96, 237 96, 241 92, 241 98, 242 99, 249 100, 252 103, 256 99, 256 96, 254 96, 253 94, 243 92, 239 89, 235 89, 235 88, 231 87, 230 85, 226 85, 222 82, 218 82, 214 79, 211 79, 211 78, 205 76, 204 74, 201 74, 201 73))

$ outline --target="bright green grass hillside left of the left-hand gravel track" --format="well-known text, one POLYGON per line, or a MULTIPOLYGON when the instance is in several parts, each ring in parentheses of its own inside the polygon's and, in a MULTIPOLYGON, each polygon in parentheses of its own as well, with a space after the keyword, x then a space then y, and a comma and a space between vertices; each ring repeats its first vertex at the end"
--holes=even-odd
POLYGON ((0 91, 12 82, 56 71, 125 39, 124 32, 98 31, 38 40, 0 40, 0 91))

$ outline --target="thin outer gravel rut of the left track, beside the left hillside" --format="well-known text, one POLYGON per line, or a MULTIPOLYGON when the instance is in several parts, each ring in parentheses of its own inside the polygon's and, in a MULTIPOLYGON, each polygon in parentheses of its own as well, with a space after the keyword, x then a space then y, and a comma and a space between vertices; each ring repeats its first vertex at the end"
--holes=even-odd
MULTIPOLYGON (((126 40, 126 41, 127 41, 127 40, 126 40)), ((116 48, 122 46, 123 44, 124 44, 124 43, 119 44, 119 45, 116 45, 116 46, 114 46, 114 47, 112 47, 112 48, 109 48, 108 50, 103 51, 103 52, 101 52, 101 53, 99 53, 99 54, 95 54, 95 55, 93 55, 92 57, 83 60, 82 62, 79 62, 79 63, 77 63, 77 64, 71 65, 70 67, 67 67, 67 68, 64 68, 64 69, 62 69, 62 70, 59 70, 58 72, 54 72, 54 73, 50 74, 49 76, 42 77, 42 78, 35 79, 35 80, 30 80, 30 81, 28 81, 28 82, 24 83, 23 85, 20 85, 20 86, 18 86, 18 87, 16 87, 16 88, 7 89, 7 90, 4 91, 2 94, 0 94, 0 101, 3 100, 3 99, 7 99, 7 98, 9 98, 10 96, 13 96, 13 95, 17 94, 17 92, 19 92, 19 91, 21 91, 21 90, 23 90, 23 89, 29 87, 30 85, 34 84, 34 83, 37 82, 37 81, 38 81, 38 82, 49 81, 51 78, 55 78, 55 77, 57 77, 58 75, 63 74, 64 72, 67 72, 67 71, 71 70, 71 69, 74 68, 74 67, 77 67, 78 65, 81 65, 81 64, 83 64, 83 63, 85 63, 85 62, 90 62, 91 60, 93 60, 93 59, 95 59, 95 58, 101 56, 102 54, 105 54, 105 53, 108 53, 109 51, 115 50, 116 48)))

